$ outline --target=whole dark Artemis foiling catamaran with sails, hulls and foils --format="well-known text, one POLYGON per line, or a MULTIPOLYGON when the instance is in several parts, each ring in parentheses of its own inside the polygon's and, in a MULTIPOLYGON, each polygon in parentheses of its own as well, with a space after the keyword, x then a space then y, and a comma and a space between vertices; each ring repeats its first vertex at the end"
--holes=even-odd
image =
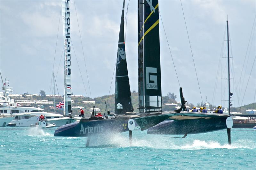
POLYGON ((129 131, 131 143, 135 122, 141 130, 146 130, 169 118, 175 122, 170 126, 175 132, 172 134, 183 134, 186 137, 189 133, 228 129, 230 144, 230 129, 233 124, 231 117, 225 114, 187 112, 182 88, 180 109, 162 112, 158 0, 139 0, 138 7, 139 113, 133 113, 131 101, 125 55, 123 3, 116 59, 115 114, 109 119, 93 115, 82 118, 79 122, 59 127, 54 136, 88 137, 88 146, 92 135, 129 131))

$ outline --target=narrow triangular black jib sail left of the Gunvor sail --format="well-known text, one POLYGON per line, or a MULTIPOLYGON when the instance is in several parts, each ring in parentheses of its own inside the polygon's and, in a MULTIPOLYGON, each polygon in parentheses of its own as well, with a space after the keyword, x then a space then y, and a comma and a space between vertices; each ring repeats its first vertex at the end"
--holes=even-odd
POLYGON ((119 41, 116 59, 115 112, 124 114, 133 112, 131 90, 127 71, 124 42, 124 4, 121 17, 119 41))

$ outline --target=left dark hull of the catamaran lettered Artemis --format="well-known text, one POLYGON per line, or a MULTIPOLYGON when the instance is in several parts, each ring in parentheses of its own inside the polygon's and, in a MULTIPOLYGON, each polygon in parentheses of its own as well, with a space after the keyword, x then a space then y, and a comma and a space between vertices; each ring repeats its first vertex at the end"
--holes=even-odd
POLYGON ((141 130, 146 130, 170 117, 168 114, 156 113, 127 113, 126 115, 113 115, 109 119, 102 117, 84 117, 79 122, 67 124, 55 130, 54 136, 87 137, 99 133, 121 133, 128 131, 128 120, 133 119, 141 130))

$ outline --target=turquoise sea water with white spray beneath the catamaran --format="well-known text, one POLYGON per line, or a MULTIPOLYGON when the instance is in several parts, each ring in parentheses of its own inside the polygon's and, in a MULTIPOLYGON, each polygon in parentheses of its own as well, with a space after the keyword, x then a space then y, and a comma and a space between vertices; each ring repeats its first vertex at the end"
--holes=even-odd
MULTIPOLYGON (((0 169, 256 169, 256 130, 168 138, 133 131, 94 137, 54 137, 56 128, 0 127, 0 169)), ((179 137, 179 136, 176 136, 179 137)))

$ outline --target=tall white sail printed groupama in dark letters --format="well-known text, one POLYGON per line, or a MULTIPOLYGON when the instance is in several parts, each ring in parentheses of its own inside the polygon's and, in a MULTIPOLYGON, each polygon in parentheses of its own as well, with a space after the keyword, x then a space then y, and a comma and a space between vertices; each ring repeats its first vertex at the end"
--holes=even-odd
POLYGON ((61 1, 63 38, 64 38, 64 89, 65 115, 71 116, 71 39, 70 39, 70 0, 61 1))

